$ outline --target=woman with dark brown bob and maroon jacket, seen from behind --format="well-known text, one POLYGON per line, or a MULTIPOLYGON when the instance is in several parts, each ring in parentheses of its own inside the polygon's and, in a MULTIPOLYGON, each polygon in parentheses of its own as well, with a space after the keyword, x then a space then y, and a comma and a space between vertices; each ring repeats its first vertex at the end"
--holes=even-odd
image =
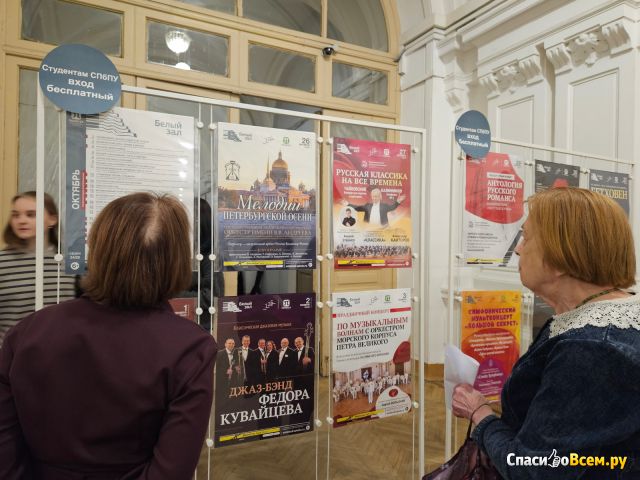
POLYGON ((188 232, 173 197, 114 200, 91 228, 83 297, 7 334, 0 478, 191 478, 216 344, 167 302, 191 278, 188 232))

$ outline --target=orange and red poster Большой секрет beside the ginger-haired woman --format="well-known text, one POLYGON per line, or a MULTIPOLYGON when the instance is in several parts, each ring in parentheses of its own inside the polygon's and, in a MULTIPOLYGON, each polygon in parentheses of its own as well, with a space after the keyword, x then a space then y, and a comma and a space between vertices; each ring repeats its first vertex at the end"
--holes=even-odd
POLYGON ((474 388, 497 399, 520 356, 522 294, 511 290, 462 292, 460 349, 479 363, 474 388))

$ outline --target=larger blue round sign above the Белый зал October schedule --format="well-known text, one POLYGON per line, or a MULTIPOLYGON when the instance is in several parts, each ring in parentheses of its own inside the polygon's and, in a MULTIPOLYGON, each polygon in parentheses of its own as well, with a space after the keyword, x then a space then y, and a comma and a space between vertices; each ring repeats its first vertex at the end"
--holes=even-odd
POLYGON ((61 45, 40 64, 40 88, 54 105, 73 113, 106 112, 120 100, 115 65, 87 45, 61 45))

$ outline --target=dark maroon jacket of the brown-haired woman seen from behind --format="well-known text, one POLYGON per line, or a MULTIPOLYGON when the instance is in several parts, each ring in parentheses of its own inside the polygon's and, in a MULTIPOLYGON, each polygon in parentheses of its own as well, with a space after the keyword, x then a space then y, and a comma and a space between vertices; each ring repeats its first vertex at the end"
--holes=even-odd
POLYGON ((190 479, 216 350, 168 304, 79 298, 29 315, 0 349, 0 478, 190 479))

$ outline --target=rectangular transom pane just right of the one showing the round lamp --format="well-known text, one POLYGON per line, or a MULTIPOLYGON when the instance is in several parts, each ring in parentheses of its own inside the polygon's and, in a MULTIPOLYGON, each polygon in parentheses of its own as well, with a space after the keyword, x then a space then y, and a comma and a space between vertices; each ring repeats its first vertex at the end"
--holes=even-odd
POLYGON ((315 91, 315 61, 284 50, 249 45, 249 81, 315 91))

